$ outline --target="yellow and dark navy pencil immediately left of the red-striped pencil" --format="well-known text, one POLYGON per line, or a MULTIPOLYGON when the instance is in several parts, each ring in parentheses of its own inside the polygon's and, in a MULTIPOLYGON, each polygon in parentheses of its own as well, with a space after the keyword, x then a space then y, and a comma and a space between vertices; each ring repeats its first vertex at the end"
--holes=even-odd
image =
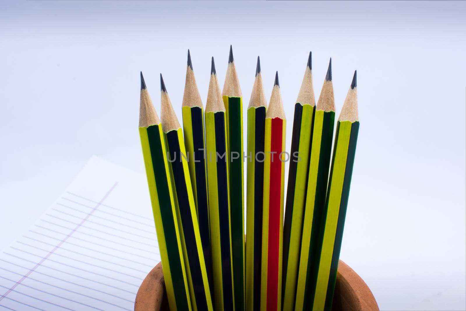
POLYGON ((262 252, 262 205, 264 192, 264 135, 267 100, 262 85, 260 59, 247 107, 247 199, 246 199, 246 310, 260 310, 260 264, 262 252))

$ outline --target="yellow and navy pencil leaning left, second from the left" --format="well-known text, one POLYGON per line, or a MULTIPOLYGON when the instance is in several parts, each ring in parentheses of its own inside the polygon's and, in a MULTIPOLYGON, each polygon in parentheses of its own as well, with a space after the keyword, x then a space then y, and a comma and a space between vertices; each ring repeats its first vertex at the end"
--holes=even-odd
POLYGON ((162 75, 160 75, 160 118, 170 155, 168 161, 173 192, 176 196, 175 207, 178 208, 178 226, 185 256, 191 304, 194 310, 213 310, 188 161, 185 157, 185 142, 162 75))

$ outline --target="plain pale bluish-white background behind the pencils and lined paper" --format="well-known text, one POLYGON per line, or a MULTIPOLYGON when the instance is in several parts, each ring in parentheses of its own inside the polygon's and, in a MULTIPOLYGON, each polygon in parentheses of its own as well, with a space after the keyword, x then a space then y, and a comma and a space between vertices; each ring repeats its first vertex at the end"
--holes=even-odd
POLYGON ((465 14, 465 2, 2 1, 0 249, 92 154, 144 172, 139 70, 158 111, 163 73, 181 117, 187 48, 205 104, 210 57, 223 85, 233 44, 245 108, 260 55, 267 97, 279 72, 289 150, 312 50, 316 97, 332 57, 337 115, 358 70, 341 258, 383 310, 466 309, 465 14))

